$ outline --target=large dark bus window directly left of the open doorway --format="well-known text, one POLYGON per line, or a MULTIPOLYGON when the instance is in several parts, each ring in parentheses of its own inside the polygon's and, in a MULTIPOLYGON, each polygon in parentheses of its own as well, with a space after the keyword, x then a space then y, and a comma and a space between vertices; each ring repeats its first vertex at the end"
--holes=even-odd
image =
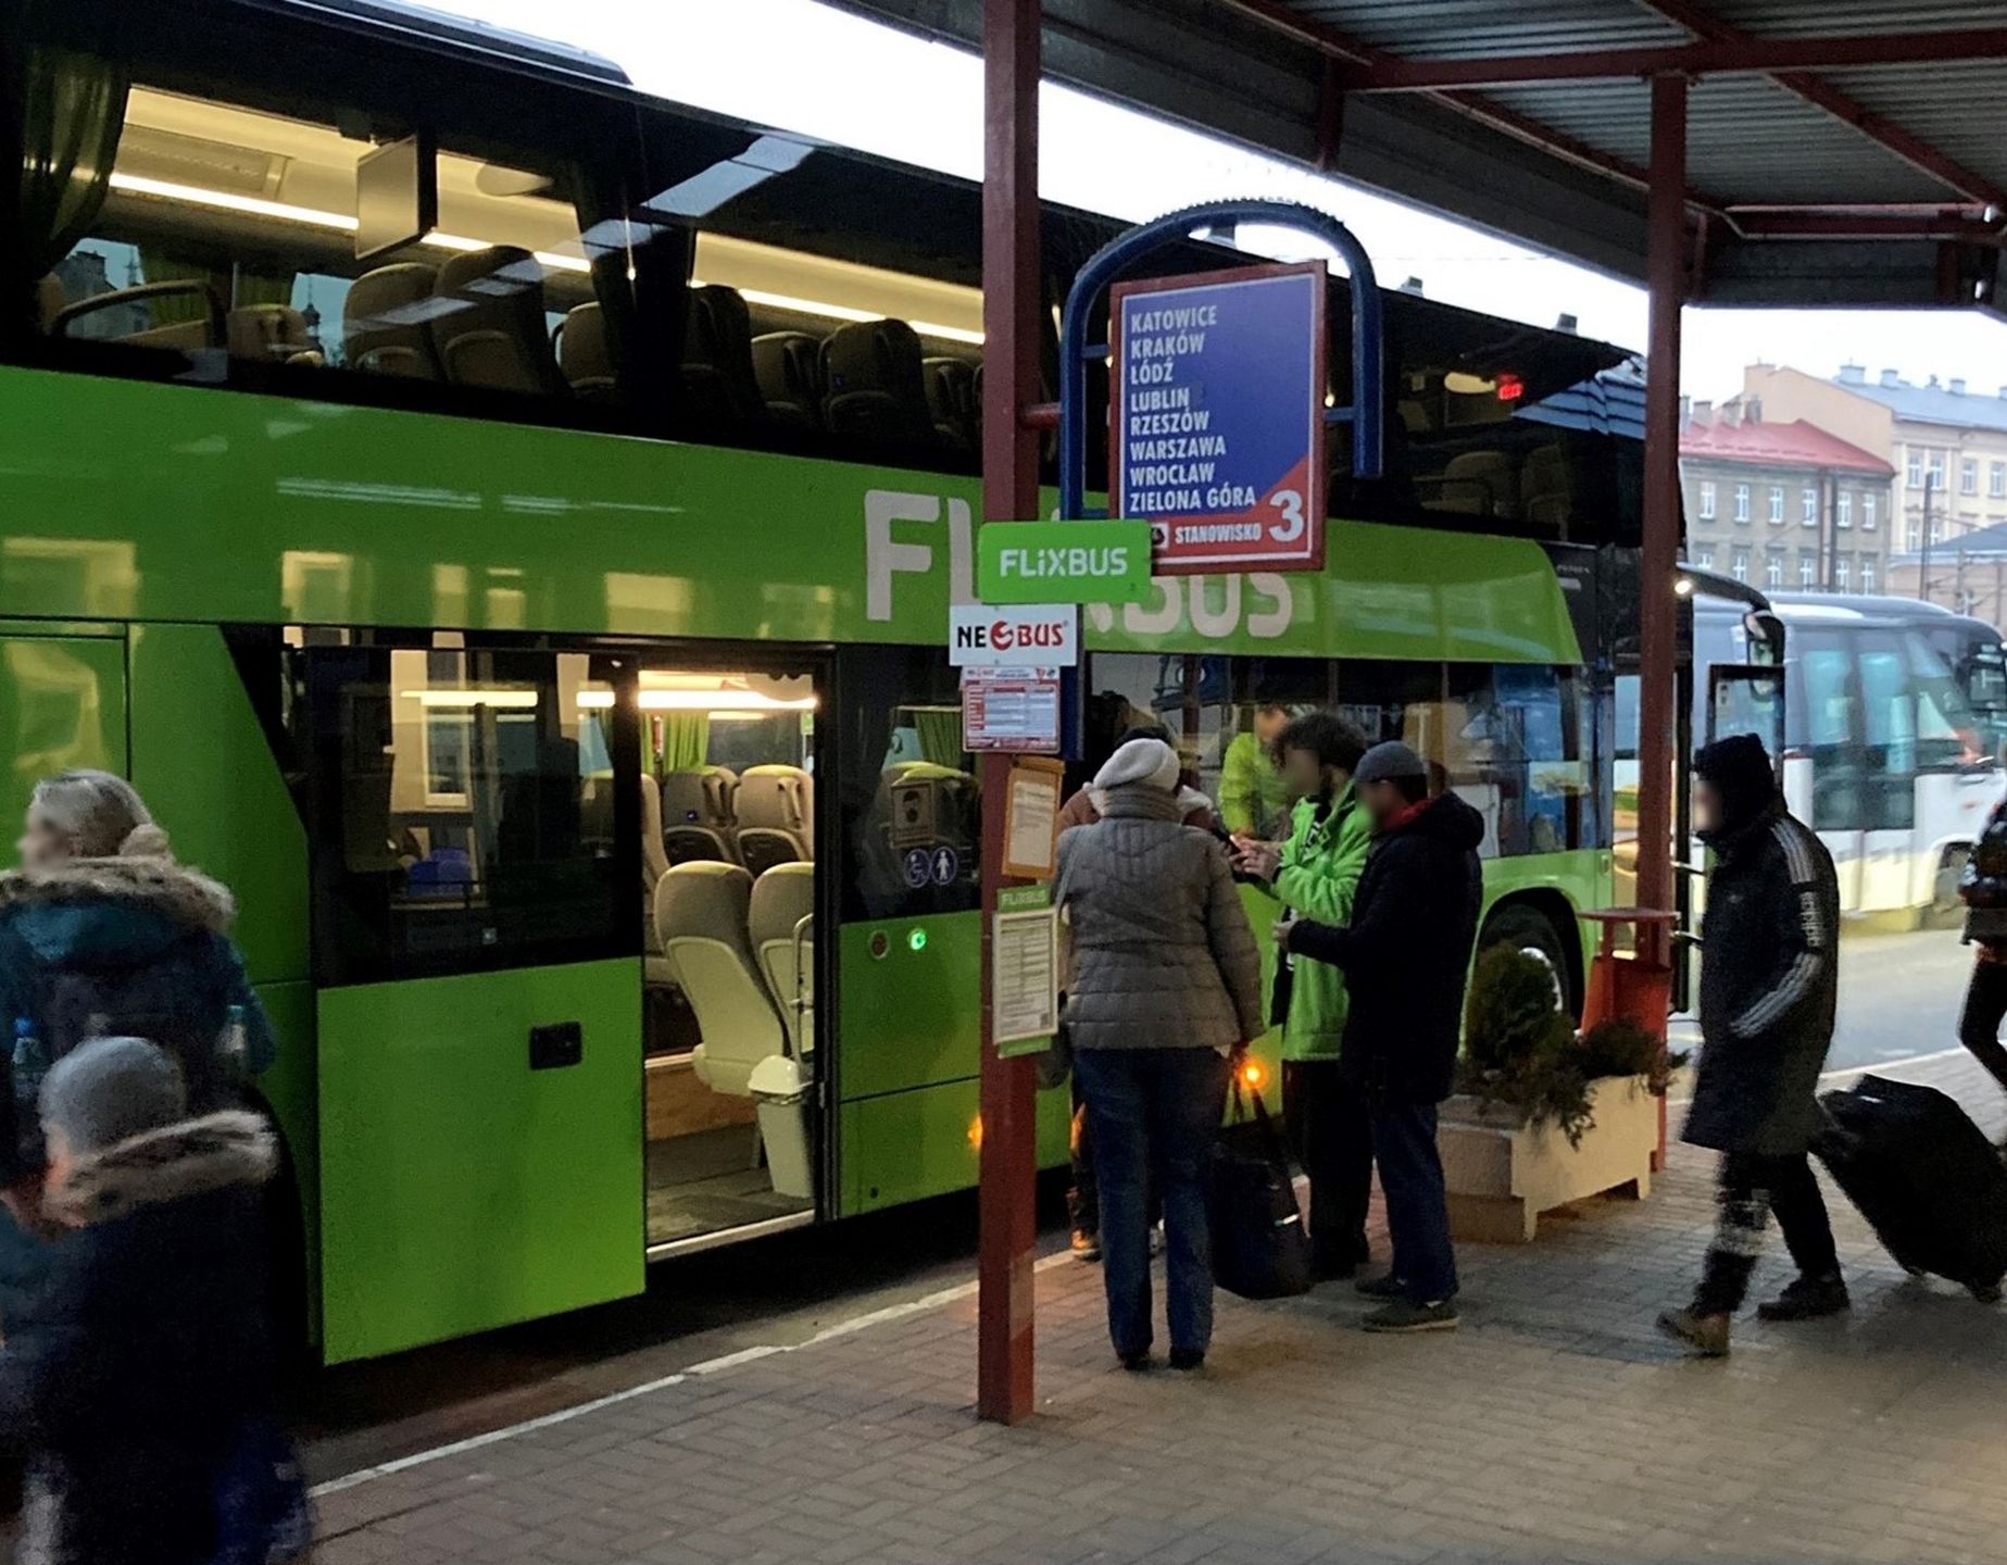
POLYGON ((315 945, 323 983, 636 949, 628 706, 586 654, 315 648, 315 945), (606 728, 626 728, 608 736, 606 728))

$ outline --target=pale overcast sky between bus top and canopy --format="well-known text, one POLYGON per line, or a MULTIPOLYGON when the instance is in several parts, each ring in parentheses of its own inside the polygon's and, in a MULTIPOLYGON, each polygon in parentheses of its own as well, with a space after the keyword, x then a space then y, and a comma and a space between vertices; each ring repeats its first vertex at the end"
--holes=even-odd
MULTIPOLYGON (((648 92, 945 173, 981 175, 975 56, 817 0, 427 0, 618 60, 648 92)), ((1345 219, 1381 281, 1419 277, 1431 299, 1644 347, 1644 293, 1489 233, 1276 159, 1048 84, 1040 98, 1046 197, 1126 219, 1214 197, 1288 197, 1345 219)), ((1246 239, 1246 237, 1244 237, 1246 239)), ((1278 247, 1282 249, 1282 247, 1278 247)), ((1684 389, 1720 401, 1754 359, 1830 375, 1844 359, 1923 381, 2007 383, 2007 323, 1971 311, 1686 311, 1684 389)))

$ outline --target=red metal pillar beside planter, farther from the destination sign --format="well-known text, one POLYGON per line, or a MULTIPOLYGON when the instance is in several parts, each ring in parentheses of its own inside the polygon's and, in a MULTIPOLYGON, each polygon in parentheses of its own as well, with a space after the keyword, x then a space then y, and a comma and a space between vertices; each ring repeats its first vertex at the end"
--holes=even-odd
MULTIPOLYGON (((1652 78, 1644 550, 1638 574, 1638 905, 1672 907, 1672 680, 1680 568, 1680 307, 1686 303, 1686 76, 1652 78)), ((1644 939, 1644 929, 1638 931, 1644 939)), ((1664 961, 1666 951, 1648 953, 1664 961)))

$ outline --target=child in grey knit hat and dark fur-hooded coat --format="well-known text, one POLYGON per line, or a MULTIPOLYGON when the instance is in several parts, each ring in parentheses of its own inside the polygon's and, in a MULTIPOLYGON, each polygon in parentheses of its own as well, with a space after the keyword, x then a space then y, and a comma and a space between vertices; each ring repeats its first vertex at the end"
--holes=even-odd
POLYGON ((185 1118, 179 1067, 136 1037, 66 1053, 40 1112, 52 1262, 0 1348, 0 1421, 28 1447, 20 1559, 211 1565, 269 1415, 273 1136, 237 1110, 185 1118))

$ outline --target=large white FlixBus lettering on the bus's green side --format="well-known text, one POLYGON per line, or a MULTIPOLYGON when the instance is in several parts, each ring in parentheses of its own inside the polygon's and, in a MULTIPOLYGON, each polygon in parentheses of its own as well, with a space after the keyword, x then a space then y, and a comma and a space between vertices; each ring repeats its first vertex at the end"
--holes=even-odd
MULTIPOLYGON (((959 496, 905 490, 865 492, 865 618, 893 624, 905 614, 939 614, 975 602, 975 514, 959 496)), ((1248 636, 1268 642, 1288 634, 1295 592, 1284 576, 1158 576, 1142 602, 1088 604, 1096 634, 1156 638, 1194 632, 1206 640, 1248 636)), ((937 622, 935 622, 937 624, 937 622)), ((935 632, 937 634, 937 632, 935 632)))

